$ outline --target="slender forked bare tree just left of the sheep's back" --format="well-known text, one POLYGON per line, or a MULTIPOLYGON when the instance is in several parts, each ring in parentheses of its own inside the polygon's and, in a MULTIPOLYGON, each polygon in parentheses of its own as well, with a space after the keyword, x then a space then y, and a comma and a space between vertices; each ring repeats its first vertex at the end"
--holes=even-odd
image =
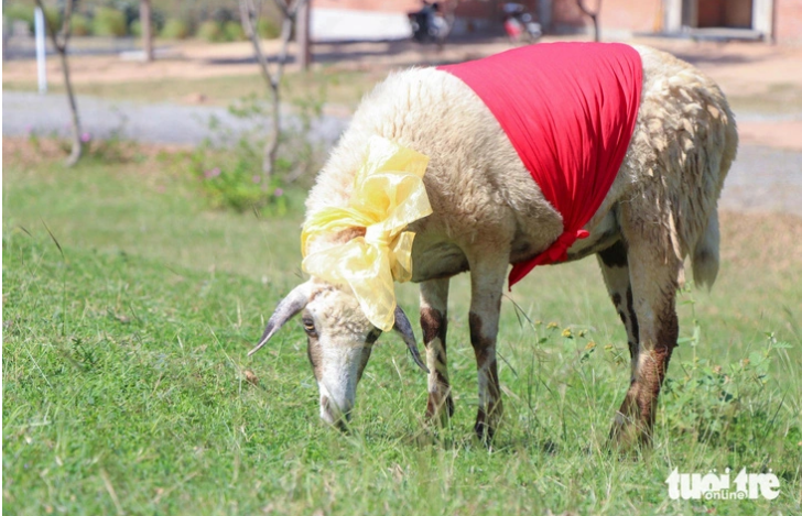
POLYGON ((257 22, 262 7, 262 0, 240 0, 239 13, 242 19, 242 29, 246 35, 253 44, 253 53, 257 63, 262 73, 262 78, 267 83, 271 96, 272 112, 272 133, 264 145, 264 156, 262 157, 262 187, 269 188, 270 176, 273 174, 275 166, 275 157, 281 143, 281 77, 284 74, 284 65, 286 64, 286 50, 292 36, 292 26, 297 18, 299 9, 306 4, 308 0, 273 0, 281 12, 281 50, 275 61, 275 66, 271 69, 268 58, 262 52, 261 41, 257 31, 257 22))

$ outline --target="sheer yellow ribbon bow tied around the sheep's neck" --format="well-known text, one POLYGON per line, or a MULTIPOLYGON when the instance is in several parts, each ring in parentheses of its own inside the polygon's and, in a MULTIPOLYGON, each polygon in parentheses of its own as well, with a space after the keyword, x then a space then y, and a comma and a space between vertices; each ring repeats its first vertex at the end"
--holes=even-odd
POLYGON ((365 316, 383 331, 395 321, 393 279, 412 278, 414 233, 403 230, 432 212, 423 185, 427 165, 429 157, 412 149, 371 138, 349 206, 314 213, 301 233, 304 272, 350 286, 365 316), (306 255, 311 240, 349 228, 365 228, 365 237, 306 255))

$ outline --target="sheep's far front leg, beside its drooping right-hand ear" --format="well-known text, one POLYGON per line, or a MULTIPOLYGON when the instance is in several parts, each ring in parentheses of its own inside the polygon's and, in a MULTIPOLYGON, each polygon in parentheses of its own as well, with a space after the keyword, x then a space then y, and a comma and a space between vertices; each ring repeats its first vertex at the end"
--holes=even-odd
POLYGON ((429 402, 426 418, 448 418, 454 414, 454 400, 448 383, 448 362, 445 333, 448 328, 448 278, 421 283, 421 328, 426 344, 429 366, 429 402), (445 410, 443 409, 445 408, 445 410))

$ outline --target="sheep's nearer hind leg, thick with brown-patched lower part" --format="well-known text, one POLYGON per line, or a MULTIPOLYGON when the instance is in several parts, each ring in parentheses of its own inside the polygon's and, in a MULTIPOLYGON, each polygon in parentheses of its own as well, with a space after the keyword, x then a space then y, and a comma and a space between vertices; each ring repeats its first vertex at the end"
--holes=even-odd
POLYGON ((676 278, 680 260, 654 243, 646 224, 631 224, 627 259, 632 306, 638 321, 638 352, 633 353, 632 381, 616 414, 610 439, 625 448, 651 443, 660 386, 676 347, 676 278))

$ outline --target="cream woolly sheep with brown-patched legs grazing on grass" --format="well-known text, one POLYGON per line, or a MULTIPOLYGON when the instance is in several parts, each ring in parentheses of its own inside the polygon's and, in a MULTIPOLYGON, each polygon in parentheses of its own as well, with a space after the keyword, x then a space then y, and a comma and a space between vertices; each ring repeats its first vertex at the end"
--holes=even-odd
MULTIPOLYGON (((734 116, 712 79, 666 53, 633 47, 643 73, 635 130, 611 187, 584 227, 589 238, 573 243, 566 256, 597 255, 627 330, 630 385, 610 430, 619 446, 651 442, 658 395, 678 341, 675 296, 684 259, 691 256, 697 284, 715 281, 716 205, 738 144, 734 116)), ((415 235, 411 281, 420 283, 425 365, 400 307, 392 328, 429 374, 426 417, 449 417, 448 282, 470 272, 475 432, 489 442, 502 414, 496 345, 507 267, 549 248, 563 231, 562 217, 466 84, 442 69, 412 68, 391 75, 362 100, 310 191, 307 221, 349 205, 366 143, 375 136, 430 157, 423 184, 432 213, 407 227, 415 235)), ((311 252, 364 234, 364 228, 340 228, 310 242, 311 252)), ((321 418, 343 428, 382 329, 368 320, 351 288, 313 275, 279 304, 253 351, 301 311, 321 418)))

